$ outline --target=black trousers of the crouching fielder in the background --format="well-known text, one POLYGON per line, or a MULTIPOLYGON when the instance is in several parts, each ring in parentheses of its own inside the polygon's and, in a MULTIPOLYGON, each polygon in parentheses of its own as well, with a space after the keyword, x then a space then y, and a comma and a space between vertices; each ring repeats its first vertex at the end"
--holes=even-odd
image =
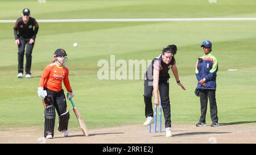
POLYGON ((23 73, 23 61, 24 61, 24 53, 26 47, 26 74, 31 74, 31 62, 32 62, 32 50, 34 47, 34 43, 30 44, 30 38, 26 39, 20 37, 20 44, 18 45, 18 73, 23 73))

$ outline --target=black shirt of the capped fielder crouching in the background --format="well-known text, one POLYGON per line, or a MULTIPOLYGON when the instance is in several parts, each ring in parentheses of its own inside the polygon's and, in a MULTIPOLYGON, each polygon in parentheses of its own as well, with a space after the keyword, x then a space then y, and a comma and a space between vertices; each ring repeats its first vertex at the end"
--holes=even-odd
POLYGON ((18 18, 14 23, 14 37, 15 39, 19 39, 19 37, 22 36, 26 39, 31 38, 35 40, 38 29, 39 25, 35 18, 30 17, 28 22, 25 24, 21 17, 18 18))

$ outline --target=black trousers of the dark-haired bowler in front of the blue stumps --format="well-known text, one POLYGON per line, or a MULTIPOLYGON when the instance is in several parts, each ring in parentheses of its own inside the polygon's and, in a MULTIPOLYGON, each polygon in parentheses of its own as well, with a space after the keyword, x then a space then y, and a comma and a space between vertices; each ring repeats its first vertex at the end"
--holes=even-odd
MULTIPOLYGON (((145 116, 153 117, 154 111, 152 108, 152 91, 153 91, 153 81, 146 79, 144 81, 144 103, 145 103, 145 116)), ((169 98, 169 82, 168 80, 159 81, 159 94, 162 103, 165 127, 171 127, 171 105, 169 98)))

